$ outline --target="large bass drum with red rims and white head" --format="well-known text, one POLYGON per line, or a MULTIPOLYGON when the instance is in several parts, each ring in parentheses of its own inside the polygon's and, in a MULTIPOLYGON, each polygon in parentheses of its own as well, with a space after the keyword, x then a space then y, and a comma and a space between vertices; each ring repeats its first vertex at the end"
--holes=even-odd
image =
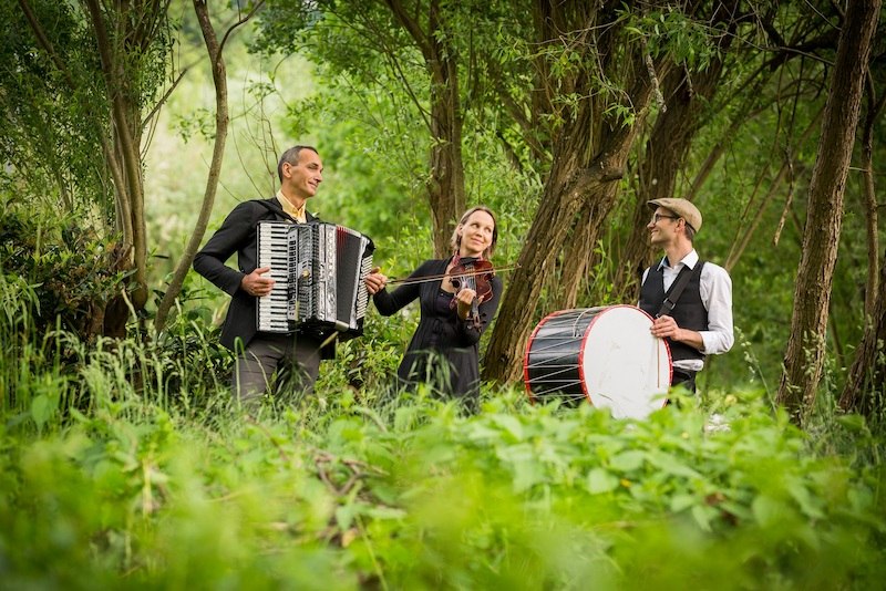
POLYGON ((667 404, 668 343, 649 332, 652 317, 633 305, 560 310, 538 323, 523 375, 533 402, 587 400, 618 418, 645 418, 667 404))

